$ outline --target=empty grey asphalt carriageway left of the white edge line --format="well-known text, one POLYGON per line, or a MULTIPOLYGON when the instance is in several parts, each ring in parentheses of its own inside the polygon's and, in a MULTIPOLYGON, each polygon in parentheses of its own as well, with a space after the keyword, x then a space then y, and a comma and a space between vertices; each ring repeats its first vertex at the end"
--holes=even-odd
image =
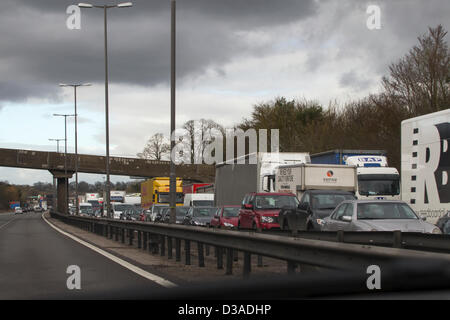
POLYGON ((41 213, 0 213, 0 299, 83 299, 159 284, 54 230, 41 213), (67 288, 67 267, 81 270, 81 289, 67 288))

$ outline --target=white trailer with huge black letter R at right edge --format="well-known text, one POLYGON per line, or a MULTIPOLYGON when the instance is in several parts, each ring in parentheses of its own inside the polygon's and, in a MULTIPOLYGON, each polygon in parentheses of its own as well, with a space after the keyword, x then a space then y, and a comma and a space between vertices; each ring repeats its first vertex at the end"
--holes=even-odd
POLYGON ((450 212, 450 110, 402 121, 402 200, 436 223, 450 212))

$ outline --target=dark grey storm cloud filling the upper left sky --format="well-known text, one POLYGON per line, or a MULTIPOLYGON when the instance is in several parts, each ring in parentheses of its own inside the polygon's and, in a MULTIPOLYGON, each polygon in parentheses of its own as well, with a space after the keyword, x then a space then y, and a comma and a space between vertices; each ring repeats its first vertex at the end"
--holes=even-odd
MULTIPOLYGON (((102 82, 103 12, 82 9, 81 30, 66 28, 76 1, 7 0, 0 12, 1 101, 54 96, 60 82, 102 82)), ((96 1, 94 4, 98 3, 96 1)), ((111 3, 111 1, 107 1, 111 3)), ((108 12, 110 81, 168 83, 170 1, 133 1, 108 12)), ((201 74, 240 54, 258 54, 236 31, 289 23, 315 13, 313 0, 177 2, 177 74, 201 74)), ((223 74, 225 76, 225 74, 223 74)))

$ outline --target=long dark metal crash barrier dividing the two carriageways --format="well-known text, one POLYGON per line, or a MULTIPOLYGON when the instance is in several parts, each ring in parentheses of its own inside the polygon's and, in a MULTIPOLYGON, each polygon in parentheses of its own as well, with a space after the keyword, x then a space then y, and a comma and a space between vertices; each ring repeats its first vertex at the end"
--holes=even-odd
MULTIPOLYGON (((224 268, 231 274, 236 252, 243 252, 244 277, 251 272, 251 256, 270 257, 287 263, 287 272, 294 273, 298 265, 306 264, 341 270, 366 270, 370 265, 383 266, 396 260, 436 260, 450 263, 446 253, 426 252, 403 248, 380 247, 370 244, 352 244, 277 236, 258 232, 234 232, 163 223, 123 221, 94 217, 80 217, 51 212, 53 218, 67 224, 94 232, 109 239, 128 245, 136 245, 142 250, 181 261, 181 243, 184 242, 185 264, 191 264, 191 243, 197 244, 199 267, 205 266, 205 249, 215 251, 218 269, 224 268), (224 261, 225 256, 225 261, 224 261)), ((375 233, 373 233, 375 234, 375 233)), ((347 234, 345 234, 347 237, 347 234)), ((402 236, 405 236, 403 234, 402 236)), ((334 237, 342 237, 335 234, 334 237)), ((391 239, 395 236, 391 235, 391 239)), ((407 238, 407 236, 406 236, 407 238)), ((359 239, 360 240, 360 239, 359 239)), ((398 240, 396 240, 398 242, 398 240)), ((258 264, 261 259, 258 259, 258 264)))

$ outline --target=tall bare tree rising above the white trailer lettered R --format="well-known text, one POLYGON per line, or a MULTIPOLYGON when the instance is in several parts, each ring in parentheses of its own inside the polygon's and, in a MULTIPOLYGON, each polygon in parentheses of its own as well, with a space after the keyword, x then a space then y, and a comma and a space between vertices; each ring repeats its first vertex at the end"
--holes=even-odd
POLYGON ((447 31, 441 25, 429 28, 419 44, 389 67, 383 78, 386 93, 413 116, 450 108, 448 79, 450 51, 447 31))

